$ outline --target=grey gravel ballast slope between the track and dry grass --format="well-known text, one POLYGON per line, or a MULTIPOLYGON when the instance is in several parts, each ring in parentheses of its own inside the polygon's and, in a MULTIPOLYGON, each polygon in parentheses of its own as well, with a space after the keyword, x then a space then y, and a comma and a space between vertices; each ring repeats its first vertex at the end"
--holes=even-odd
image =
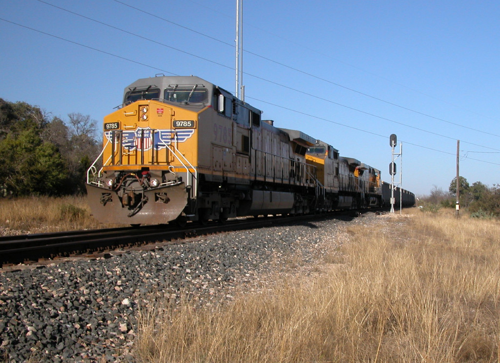
MULTIPOLYGON (((136 312, 151 294, 213 304, 284 268, 314 265, 339 230, 375 222, 308 221, 223 233, 150 251, 111 252, 0 272, 0 357, 8 362, 133 361, 136 312)), ((3 360, 2 360, 3 361, 3 360)))

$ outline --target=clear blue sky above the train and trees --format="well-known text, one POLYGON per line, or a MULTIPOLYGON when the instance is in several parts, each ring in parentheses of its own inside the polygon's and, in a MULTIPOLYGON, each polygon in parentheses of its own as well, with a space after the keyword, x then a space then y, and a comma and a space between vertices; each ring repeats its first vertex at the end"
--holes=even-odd
MULTIPOLYGON (((0 20, 1 98, 100 125, 127 84, 156 73, 197 75, 234 93, 235 0, 46 2, 73 13, 0 0, 2 19, 32 28, 0 20)), ((460 175, 492 186, 498 19, 498 1, 243 0, 245 100, 387 181, 395 133, 403 187, 419 195, 447 190, 460 139, 460 175)))

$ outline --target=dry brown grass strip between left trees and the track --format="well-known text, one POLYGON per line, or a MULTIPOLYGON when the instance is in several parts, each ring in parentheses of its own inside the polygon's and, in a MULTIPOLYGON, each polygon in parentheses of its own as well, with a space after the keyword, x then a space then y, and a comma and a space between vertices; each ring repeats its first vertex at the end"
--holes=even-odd
POLYGON ((0 226, 7 234, 109 227, 90 215, 84 196, 0 198, 0 226), (11 233, 8 233, 8 232, 11 233))

